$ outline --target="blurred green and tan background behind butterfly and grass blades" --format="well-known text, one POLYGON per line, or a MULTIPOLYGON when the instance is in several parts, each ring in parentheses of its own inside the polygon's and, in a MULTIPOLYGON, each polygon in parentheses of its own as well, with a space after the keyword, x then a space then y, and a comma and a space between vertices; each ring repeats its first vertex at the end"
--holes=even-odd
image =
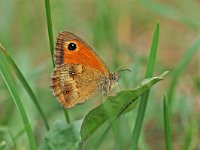
MULTIPOLYGON (((52 0, 51 13, 54 38, 60 31, 73 32, 94 48, 111 72, 120 66, 132 70, 122 73, 121 89, 134 88, 144 78, 154 28, 159 20, 160 39, 154 75, 165 70, 171 73, 151 91, 139 148, 164 149, 163 95, 169 91, 173 71, 186 50, 199 38, 200 2, 52 0)), ((44 1, 0 0, 0 43, 31 85, 51 126, 55 120, 65 118, 49 88, 53 66, 46 24, 44 1)), ((15 80, 15 84, 39 145, 47 131, 19 81, 15 80)), ((183 149, 188 134, 192 134, 188 149, 200 149, 199 91, 200 53, 196 51, 178 76, 173 93, 171 125, 174 149, 183 149)), ((77 128, 81 118, 94 106, 90 101, 69 110, 70 119, 77 128)), ((125 143, 131 137, 136 113, 134 110, 122 117, 120 126, 128 130, 121 130, 119 135, 125 143)), ((0 126, 8 127, 14 136, 19 135, 16 140, 18 148, 27 149, 21 117, 1 77, 0 126)), ((107 138, 102 149, 113 148, 112 136, 107 138)), ((0 132, 0 145, 2 141, 10 141, 7 133, 0 132)))

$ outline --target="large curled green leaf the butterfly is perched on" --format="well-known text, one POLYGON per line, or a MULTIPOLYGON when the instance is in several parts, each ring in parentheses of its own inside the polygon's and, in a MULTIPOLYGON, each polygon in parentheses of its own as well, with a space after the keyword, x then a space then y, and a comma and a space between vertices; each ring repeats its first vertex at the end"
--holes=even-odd
POLYGON ((105 122, 112 122, 121 114, 127 112, 127 109, 135 104, 134 102, 136 99, 158 81, 162 80, 166 73, 167 72, 159 77, 145 79, 133 90, 124 90, 118 92, 115 96, 109 96, 104 103, 91 110, 85 116, 81 126, 81 138, 83 144, 86 140, 92 137, 97 129, 99 129, 105 122))

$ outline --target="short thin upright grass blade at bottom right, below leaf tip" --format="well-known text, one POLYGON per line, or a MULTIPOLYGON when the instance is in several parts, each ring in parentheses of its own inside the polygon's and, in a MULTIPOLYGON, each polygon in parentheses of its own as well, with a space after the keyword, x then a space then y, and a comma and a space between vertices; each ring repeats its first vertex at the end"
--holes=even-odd
POLYGON ((164 95, 163 108, 164 108, 163 115, 164 115, 164 126, 165 126, 165 146, 166 150, 172 150, 170 111, 166 94, 164 95))

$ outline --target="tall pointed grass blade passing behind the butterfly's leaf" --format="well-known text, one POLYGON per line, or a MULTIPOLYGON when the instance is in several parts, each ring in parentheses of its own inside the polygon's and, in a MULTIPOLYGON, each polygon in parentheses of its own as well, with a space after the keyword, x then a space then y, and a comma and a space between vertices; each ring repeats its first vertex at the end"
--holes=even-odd
MULTIPOLYGON (((148 61, 145 78, 152 77, 152 75, 153 75, 153 70, 154 70, 154 66, 155 66, 155 62, 156 62, 159 32, 160 32, 160 24, 158 22, 156 25, 156 29, 154 31, 154 36, 153 36, 153 40, 152 40, 152 44, 151 44, 151 51, 150 51, 150 55, 149 55, 149 61, 148 61)), ((140 137, 140 132, 142 129, 142 124, 143 124, 144 114, 145 114, 146 107, 147 107, 148 95, 149 95, 149 90, 146 93, 144 93, 141 97, 134 130, 133 130, 133 134, 131 137, 130 149, 137 149, 137 144, 138 144, 138 140, 140 137)))

